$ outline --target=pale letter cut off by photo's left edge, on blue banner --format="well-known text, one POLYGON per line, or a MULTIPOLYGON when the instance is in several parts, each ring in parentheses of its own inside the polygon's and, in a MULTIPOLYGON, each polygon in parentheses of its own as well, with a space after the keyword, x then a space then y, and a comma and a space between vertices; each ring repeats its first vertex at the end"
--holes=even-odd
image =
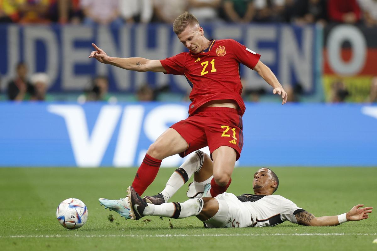
POLYGON ((20 39, 18 37, 20 30, 17 25, 7 26, 7 48, 3 48, 3 53, 6 53, 8 61, 6 62, 6 73, 1 76, 0 90, 7 88, 8 82, 15 76, 15 66, 20 59, 20 39))

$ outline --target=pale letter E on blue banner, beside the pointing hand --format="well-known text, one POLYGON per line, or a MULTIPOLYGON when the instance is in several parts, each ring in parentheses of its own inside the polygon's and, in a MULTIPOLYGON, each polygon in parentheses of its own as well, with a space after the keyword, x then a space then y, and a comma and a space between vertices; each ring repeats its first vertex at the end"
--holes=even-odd
MULTIPOLYGON (((91 26, 63 26, 61 40, 63 52, 60 56, 62 61, 62 84, 63 90, 83 90, 90 83, 90 75, 77 75, 75 73, 76 64, 90 64, 92 58, 89 58, 91 50, 89 47, 79 49, 74 46, 75 41, 93 40, 93 29, 91 26)), ((90 43, 90 42, 88 42, 90 43)), ((93 59, 92 59, 93 60, 93 59)))

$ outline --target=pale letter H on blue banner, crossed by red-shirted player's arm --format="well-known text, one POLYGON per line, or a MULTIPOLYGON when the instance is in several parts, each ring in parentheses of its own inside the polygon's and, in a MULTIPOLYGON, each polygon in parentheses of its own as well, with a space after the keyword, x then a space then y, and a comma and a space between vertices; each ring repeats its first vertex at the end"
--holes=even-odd
MULTIPOLYGON (((168 26, 157 26, 156 27, 156 47, 149 48, 147 46, 148 41, 148 26, 147 25, 139 25, 138 29, 135 29, 135 55, 140 58, 150 58, 150 59, 164 59, 166 55, 168 55, 168 47, 169 47, 169 33, 170 27, 168 26)), ((152 38, 153 39, 153 38, 152 38)), ((175 38, 178 40, 178 38, 175 38)), ((145 73, 145 72, 135 72, 135 87, 136 89, 141 85, 144 85, 148 82, 148 75, 155 74, 156 75, 156 83, 157 85, 165 85, 168 82, 168 77, 162 73, 145 73)), ((182 76, 181 76, 182 78, 182 76)))

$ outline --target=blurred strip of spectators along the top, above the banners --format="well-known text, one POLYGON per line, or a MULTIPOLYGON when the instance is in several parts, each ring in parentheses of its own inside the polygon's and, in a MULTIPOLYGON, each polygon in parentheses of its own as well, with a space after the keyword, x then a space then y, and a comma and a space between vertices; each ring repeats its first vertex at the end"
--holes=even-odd
POLYGON ((173 23, 185 11, 202 22, 365 23, 375 0, 1 0, 2 23, 173 23))

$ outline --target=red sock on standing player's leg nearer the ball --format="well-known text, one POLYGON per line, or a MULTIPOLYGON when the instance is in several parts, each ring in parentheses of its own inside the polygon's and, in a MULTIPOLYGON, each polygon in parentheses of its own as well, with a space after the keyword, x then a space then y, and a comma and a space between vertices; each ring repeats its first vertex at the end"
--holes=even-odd
POLYGON ((132 187, 140 196, 144 193, 147 187, 152 184, 161 166, 161 160, 145 155, 143 163, 141 163, 136 172, 135 179, 133 179, 132 187))

